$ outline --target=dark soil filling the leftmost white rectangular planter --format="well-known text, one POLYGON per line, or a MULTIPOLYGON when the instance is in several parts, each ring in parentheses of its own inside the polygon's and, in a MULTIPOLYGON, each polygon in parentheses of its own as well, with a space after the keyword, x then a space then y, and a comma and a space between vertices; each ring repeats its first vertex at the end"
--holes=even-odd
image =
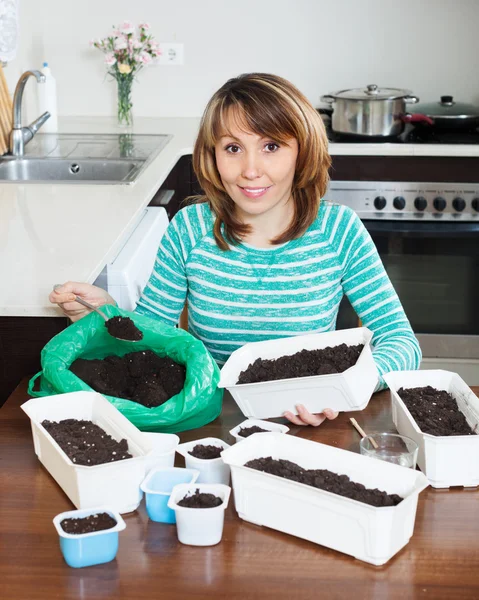
POLYGON ((68 458, 77 465, 92 467, 103 463, 132 458, 128 442, 117 442, 95 423, 64 419, 42 421, 43 427, 53 437, 68 458))

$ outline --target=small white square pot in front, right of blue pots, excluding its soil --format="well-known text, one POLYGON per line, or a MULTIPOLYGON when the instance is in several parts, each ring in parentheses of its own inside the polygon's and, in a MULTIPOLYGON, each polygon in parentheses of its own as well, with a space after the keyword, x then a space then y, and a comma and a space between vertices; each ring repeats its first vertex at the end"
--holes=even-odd
POLYGON ((182 544, 189 546, 214 546, 221 541, 231 488, 213 483, 180 484, 173 488, 168 506, 176 513, 176 532, 182 544), (223 503, 213 508, 188 508, 178 502, 199 489, 200 493, 214 494, 223 503))

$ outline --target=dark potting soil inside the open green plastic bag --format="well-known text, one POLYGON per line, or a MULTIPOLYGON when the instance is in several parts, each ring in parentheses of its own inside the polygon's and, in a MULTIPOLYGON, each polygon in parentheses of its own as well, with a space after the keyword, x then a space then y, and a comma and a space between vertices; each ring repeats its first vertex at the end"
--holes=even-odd
POLYGON ((151 350, 104 359, 77 358, 70 371, 95 391, 126 398, 147 408, 160 406, 185 385, 186 368, 151 350))

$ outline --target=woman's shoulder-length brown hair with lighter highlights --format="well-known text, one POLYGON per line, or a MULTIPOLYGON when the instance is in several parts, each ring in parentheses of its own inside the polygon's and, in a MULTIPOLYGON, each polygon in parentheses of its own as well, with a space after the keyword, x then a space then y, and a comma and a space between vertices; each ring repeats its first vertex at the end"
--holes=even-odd
POLYGON ((277 75, 246 73, 229 79, 208 102, 193 151, 193 168, 205 195, 192 199, 208 202, 216 215, 214 236, 222 250, 229 249, 226 240, 238 243, 250 232, 250 226, 235 216, 234 202, 226 193, 215 160, 215 145, 227 132, 225 123, 231 109, 246 131, 279 143, 297 140, 294 217, 288 229, 271 243, 284 244, 300 237, 317 217, 328 186, 331 158, 321 117, 293 84, 277 75))

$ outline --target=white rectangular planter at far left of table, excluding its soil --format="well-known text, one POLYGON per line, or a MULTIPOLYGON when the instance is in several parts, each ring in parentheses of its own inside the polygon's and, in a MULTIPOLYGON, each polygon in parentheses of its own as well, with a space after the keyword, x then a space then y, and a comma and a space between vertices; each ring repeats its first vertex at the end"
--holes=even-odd
POLYGON ((71 392, 22 404, 30 417, 35 454, 77 508, 107 505, 120 513, 140 504, 145 456, 152 446, 144 434, 97 392, 71 392), (86 467, 74 464, 41 425, 44 419, 93 421, 114 439, 125 438, 133 458, 86 467))

